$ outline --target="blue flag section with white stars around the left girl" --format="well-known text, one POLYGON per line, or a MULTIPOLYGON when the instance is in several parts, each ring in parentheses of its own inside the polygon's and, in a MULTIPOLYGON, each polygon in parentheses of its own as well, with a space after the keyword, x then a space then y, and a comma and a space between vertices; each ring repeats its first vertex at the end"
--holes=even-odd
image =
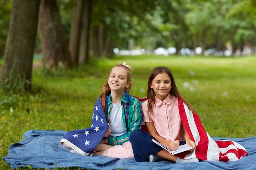
POLYGON ((99 97, 94 104, 92 126, 67 132, 60 142, 61 144, 65 143, 81 155, 91 157, 108 128, 107 119, 99 97))

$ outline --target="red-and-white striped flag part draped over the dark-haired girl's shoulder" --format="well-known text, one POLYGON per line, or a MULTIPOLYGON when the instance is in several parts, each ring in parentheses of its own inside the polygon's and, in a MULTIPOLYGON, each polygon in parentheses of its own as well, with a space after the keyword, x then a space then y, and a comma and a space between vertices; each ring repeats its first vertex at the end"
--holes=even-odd
POLYGON ((193 152, 184 152, 177 155, 182 159, 197 157, 209 161, 236 161, 247 156, 243 146, 227 140, 214 141, 205 131, 198 115, 191 112, 181 99, 178 99, 180 118, 196 148, 193 152))

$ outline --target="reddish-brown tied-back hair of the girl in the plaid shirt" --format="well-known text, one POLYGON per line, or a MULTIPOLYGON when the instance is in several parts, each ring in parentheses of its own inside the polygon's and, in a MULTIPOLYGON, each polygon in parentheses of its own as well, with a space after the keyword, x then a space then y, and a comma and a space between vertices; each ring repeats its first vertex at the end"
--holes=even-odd
MULTIPOLYGON (((129 70, 128 67, 126 67, 126 66, 124 66, 124 65, 122 65, 122 64, 113 66, 113 67, 111 68, 110 72, 108 73, 108 77, 109 77, 109 75, 110 75, 112 69, 115 68, 115 67, 122 67, 122 68, 124 68, 125 71, 126 71, 126 73, 127 73, 127 82, 131 82, 131 72, 130 72, 130 70, 129 70)), ((132 83, 131 83, 131 84, 132 84, 132 83)), ((130 84, 130 86, 129 86, 128 88, 126 87, 126 89, 125 89, 125 91, 126 91, 127 93, 129 93, 129 91, 130 91, 131 84, 130 84)), ((101 95, 101 104, 102 104, 102 108, 103 108, 104 111, 106 112, 106 110, 107 110, 107 108, 106 108, 106 97, 110 94, 110 87, 109 87, 109 85, 108 85, 108 81, 107 81, 105 84, 103 84, 102 92, 103 92, 103 93, 102 93, 102 95, 101 95)))

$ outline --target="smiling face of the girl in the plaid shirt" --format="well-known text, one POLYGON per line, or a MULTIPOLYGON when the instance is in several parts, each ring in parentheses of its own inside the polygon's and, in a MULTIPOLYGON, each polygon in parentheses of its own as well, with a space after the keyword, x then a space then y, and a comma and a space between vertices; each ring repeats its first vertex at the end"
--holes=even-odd
POLYGON ((128 81, 128 73, 121 66, 112 68, 108 77, 108 85, 111 91, 118 91, 124 93, 126 88, 130 87, 131 82, 128 81))

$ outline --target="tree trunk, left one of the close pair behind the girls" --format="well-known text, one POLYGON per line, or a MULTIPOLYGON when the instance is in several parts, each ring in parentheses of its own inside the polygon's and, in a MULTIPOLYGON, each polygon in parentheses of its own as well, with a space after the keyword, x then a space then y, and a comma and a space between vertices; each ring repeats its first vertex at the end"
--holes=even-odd
POLYGON ((81 16, 82 16, 84 2, 86 1, 75 0, 74 7, 73 7, 73 16, 72 16, 71 33, 70 33, 70 55, 72 59, 72 65, 75 67, 78 66, 78 59, 79 59, 81 16))

